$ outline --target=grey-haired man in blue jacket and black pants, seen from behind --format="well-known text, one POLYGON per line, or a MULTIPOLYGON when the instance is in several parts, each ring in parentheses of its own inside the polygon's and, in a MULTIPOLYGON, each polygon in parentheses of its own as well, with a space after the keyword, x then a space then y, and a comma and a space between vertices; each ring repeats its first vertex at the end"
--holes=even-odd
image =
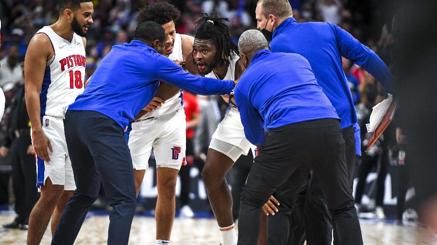
POLYGON ((363 244, 339 118, 310 64, 299 54, 271 53, 256 30, 241 35, 238 49, 247 69, 235 103, 259 152, 241 195, 238 245, 256 244, 261 206, 300 166, 313 169, 326 193, 340 244, 363 244))

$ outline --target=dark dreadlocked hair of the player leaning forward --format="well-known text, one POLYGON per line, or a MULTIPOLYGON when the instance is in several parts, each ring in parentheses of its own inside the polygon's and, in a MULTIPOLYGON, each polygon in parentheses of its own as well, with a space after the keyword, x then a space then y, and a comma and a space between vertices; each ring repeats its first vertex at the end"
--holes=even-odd
POLYGON ((229 58, 233 52, 239 54, 238 46, 231 39, 231 32, 225 21, 228 18, 219 18, 217 14, 202 13, 202 17, 196 20, 195 39, 211 40, 217 47, 216 59, 220 65, 229 65, 229 58))

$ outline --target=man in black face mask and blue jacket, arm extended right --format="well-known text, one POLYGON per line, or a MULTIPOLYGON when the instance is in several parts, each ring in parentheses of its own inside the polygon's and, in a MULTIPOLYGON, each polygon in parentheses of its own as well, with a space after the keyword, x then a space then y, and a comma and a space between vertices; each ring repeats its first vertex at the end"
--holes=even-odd
MULTIPOLYGON (((351 34, 334 24, 328 22, 297 23, 293 18, 288 0, 259 0, 255 15, 258 29, 263 32, 268 41, 271 40, 271 51, 297 53, 305 57, 323 92, 336 108, 341 119, 340 126, 346 146, 346 161, 352 189, 353 168, 356 157, 361 155, 360 129, 349 85, 342 71, 341 56, 363 66, 384 86, 386 92, 391 92, 392 76, 387 65, 369 47, 362 45, 351 34)), ((293 186, 292 181, 286 184, 289 184, 290 188, 299 188, 299 186, 293 186)), ((323 203, 323 192, 315 182, 310 184, 306 199, 305 208, 308 207, 308 203, 323 203), (308 199, 314 201, 308 201, 308 199)), ((329 218, 326 218, 329 214, 326 205, 323 206, 324 210, 320 207, 315 208, 314 205, 313 209, 315 208, 316 212, 312 210, 311 217, 305 217, 306 239, 309 244, 331 244, 331 224, 329 218), (308 230, 308 228, 313 229, 308 230), (312 233, 311 230, 317 233, 312 233)), ((273 236, 278 237, 270 230, 269 239, 273 236)), ((280 229, 276 232, 280 232, 280 229)), ((336 233, 334 233, 334 239, 336 240, 336 233)))

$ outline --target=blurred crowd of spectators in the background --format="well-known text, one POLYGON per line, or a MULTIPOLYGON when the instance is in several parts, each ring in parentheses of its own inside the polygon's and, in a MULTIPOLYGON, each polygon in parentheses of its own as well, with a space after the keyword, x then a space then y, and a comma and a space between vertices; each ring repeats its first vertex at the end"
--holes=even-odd
MULTIPOLYGON (((51 25, 57 20, 59 13, 55 2, 52 0, 0 0, 0 87, 6 96, 6 109, 0 122, 0 205, 12 204, 14 198, 17 198, 16 195, 13 195, 13 188, 11 188, 17 181, 11 178, 11 172, 13 172, 13 168, 17 168, 14 167, 18 164, 15 161, 20 161, 17 159, 21 158, 11 157, 8 152, 10 152, 11 142, 22 137, 14 126, 17 120, 12 119, 11 114, 19 114, 15 107, 22 99, 21 96, 24 96, 22 93, 24 84, 23 61, 26 47, 37 30, 43 26, 51 25)), ((132 40, 138 9, 149 1, 94 0, 93 2, 94 23, 90 26, 89 34, 86 37, 85 80, 93 74, 101 59, 109 53, 112 46, 129 43, 132 40)), ((169 2, 182 11, 181 18, 176 22, 176 30, 181 34, 194 35, 195 20, 202 13, 210 14, 212 12, 229 19, 228 24, 235 43, 243 31, 256 28, 254 10, 257 0, 169 0, 169 2)), ((295 19, 312 18, 340 26, 361 43, 374 50, 391 68, 393 59, 392 31, 395 27, 389 21, 384 23, 384 18, 380 16, 382 15, 380 6, 375 1, 290 0, 290 3, 295 19), (378 28, 375 29, 375 26, 378 28)), ((365 124, 369 122, 372 107, 385 99, 387 94, 363 68, 344 58, 342 61, 343 70, 349 81, 356 105, 361 126, 362 148, 365 150, 369 137, 365 124)), ((182 189, 178 191, 178 195, 181 202, 179 207, 189 208, 191 206, 189 210, 187 208, 184 211, 184 214, 193 216, 191 209, 210 211, 205 191, 202 190, 199 173, 202 170, 212 134, 229 107, 219 96, 190 96, 189 99, 190 101, 185 103, 185 105, 190 105, 190 107, 185 107, 187 121, 190 122, 187 124, 189 125, 187 138, 192 141, 193 150, 187 153, 188 166, 182 167, 181 172, 185 172, 184 175, 189 177, 188 181, 183 181, 182 189), (193 201, 190 202, 193 199, 205 200, 199 205, 198 202, 196 204, 193 201)), ((359 212, 370 212, 380 219, 391 216, 391 218, 402 222, 403 211, 408 207, 414 207, 414 203, 405 205, 405 199, 410 199, 410 196, 414 195, 410 189, 408 197, 405 197, 408 188, 411 187, 411 184, 406 181, 409 170, 405 167, 408 165, 405 161, 405 148, 402 130, 397 129, 396 122, 394 122, 375 146, 367 152, 363 151, 362 157, 358 160, 355 173, 357 181, 354 187, 359 212), (369 173, 371 174, 369 175, 369 173), (388 184, 387 173, 391 176, 388 184), (389 194, 386 191, 387 186, 391 189, 389 194), (397 212, 394 211, 394 208, 387 211, 387 205, 394 205, 396 202, 398 203, 397 212)), ((29 148, 27 152, 22 154, 32 156, 32 149, 29 148)), ((33 156, 30 164, 33 164, 32 158, 33 156)), ((242 156, 242 159, 237 161, 235 168, 249 169, 251 164, 252 154, 249 153, 248 156, 242 156)), ((239 200, 238 191, 245 180, 240 180, 238 175, 233 174, 232 171, 229 178, 229 183, 233 185, 233 195, 236 196, 234 200, 239 200)), ((143 191, 141 196, 147 199, 152 195, 144 194, 143 191)), ((100 201, 104 203, 104 200, 100 201)), ((147 201, 140 203, 146 209, 154 206, 154 203, 146 204, 147 201)), ((236 210, 238 210, 237 205, 238 203, 234 205, 236 210)), ((414 218, 413 211, 410 210, 409 214, 409 217, 414 218)))

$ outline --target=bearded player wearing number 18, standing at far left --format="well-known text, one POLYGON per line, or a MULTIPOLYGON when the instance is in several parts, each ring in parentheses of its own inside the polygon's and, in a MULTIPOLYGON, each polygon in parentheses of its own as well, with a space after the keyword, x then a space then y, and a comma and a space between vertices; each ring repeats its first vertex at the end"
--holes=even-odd
POLYGON ((74 193, 63 118, 84 91, 84 36, 93 23, 91 0, 60 0, 59 19, 37 31, 24 61, 26 106, 32 123, 37 183, 41 191, 29 218, 27 244, 39 244, 51 221, 52 235, 74 193))

